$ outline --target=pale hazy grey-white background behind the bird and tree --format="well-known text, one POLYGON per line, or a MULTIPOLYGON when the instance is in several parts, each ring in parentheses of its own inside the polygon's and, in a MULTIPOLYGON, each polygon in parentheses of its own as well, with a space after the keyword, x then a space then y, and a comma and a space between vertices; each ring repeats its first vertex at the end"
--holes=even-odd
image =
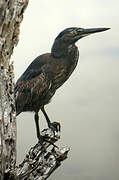
MULTIPOLYGON (((30 0, 15 48, 15 80, 38 55, 50 52, 67 27, 110 27, 81 39, 78 66, 46 107, 62 125, 68 159, 49 180, 119 180, 119 1, 30 0)), ((40 124, 46 123, 41 113, 40 124)), ((17 117, 18 162, 36 142, 32 113, 17 117)))

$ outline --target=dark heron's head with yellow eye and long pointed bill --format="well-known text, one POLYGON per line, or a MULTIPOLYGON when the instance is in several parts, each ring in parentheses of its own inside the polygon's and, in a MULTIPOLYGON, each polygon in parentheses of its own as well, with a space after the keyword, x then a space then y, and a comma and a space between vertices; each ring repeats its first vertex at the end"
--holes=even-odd
POLYGON ((67 28, 60 32, 60 34, 56 37, 54 44, 52 46, 52 54, 56 54, 60 56, 65 53, 69 47, 74 45, 79 39, 88 36, 90 34, 106 31, 110 28, 67 28))

